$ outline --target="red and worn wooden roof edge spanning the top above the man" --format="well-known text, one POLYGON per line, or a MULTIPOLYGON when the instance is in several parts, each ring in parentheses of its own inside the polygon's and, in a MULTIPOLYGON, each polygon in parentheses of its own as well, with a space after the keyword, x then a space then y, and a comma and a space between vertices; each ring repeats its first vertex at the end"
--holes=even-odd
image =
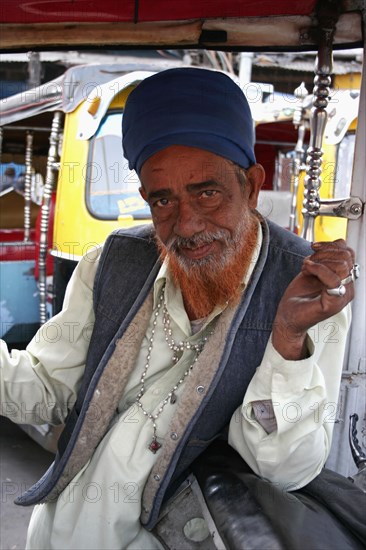
POLYGON ((309 50, 317 13, 339 12, 334 44, 361 45, 363 0, 1 0, 6 51, 116 45, 309 50))

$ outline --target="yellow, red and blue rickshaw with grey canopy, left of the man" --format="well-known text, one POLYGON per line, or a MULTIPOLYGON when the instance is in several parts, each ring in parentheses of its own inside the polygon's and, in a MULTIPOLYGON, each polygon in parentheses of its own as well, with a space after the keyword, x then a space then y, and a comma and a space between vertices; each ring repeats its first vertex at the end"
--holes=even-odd
POLYGON ((26 176, 24 197, 14 189, 0 197, 6 213, 0 229, 2 318, 8 319, 1 330, 9 343, 29 341, 61 309, 82 254, 113 229, 150 219, 122 152, 121 116, 130 89, 123 74, 115 65, 77 67, 4 101, 2 158, 5 166, 25 161, 26 176), (23 158, 13 153, 22 143, 23 158), (45 182, 40 208, 31 200, 35 170, 45 182), (21 295, 14 295, 14 283, 21 295))

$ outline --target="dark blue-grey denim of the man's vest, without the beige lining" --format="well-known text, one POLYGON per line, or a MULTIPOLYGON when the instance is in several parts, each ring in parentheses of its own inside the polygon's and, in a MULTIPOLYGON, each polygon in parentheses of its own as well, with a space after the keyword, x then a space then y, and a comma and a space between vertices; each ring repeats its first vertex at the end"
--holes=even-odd
MULTIPOLYGON (((242 403, 246 388, 261 363, 278 303, 299 273, 309 243, 279 226, 262 221, 263 245, 250 283, 226 335, 225 348, 214 380, 186 427, 169 468, 154 497, 152 510, 142 514, 153 528, 164 498, 190 464, 228 425, 242 403), (244 368, 243 368, 244 365, 244 368)), ((119 230, 108 238, 94 286, 95 325, 76 404, 60 437, 55 462, 44 476, 15 501, 23 506, 47 500, 72 453, 88 404, 116 341, 126 331, 151 290, 160 268, 152 226, 119 230)), ((102 439, 104 434, 100 434, 102 439)))

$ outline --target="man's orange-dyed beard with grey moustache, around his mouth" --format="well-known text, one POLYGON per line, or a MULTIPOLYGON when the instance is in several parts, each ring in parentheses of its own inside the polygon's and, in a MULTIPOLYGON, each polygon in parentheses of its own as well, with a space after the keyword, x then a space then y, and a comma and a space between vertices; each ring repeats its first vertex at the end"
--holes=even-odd
POLYGON ((238 304, 243 291, 243 278, 253 258, 257 243, 258 221, 247 211, 230 235, 226 229, 202 232, 192 238, 172 237, 167 245, 157 237, 160 257, 168 262, 174 283, 181 289, 184 306, 191 320, 207 317, 215 306, 238 304), (180 247, 197 248, 219 240, 224 244, 220 257, 208 255, 189 260, 179 252, 180 247))

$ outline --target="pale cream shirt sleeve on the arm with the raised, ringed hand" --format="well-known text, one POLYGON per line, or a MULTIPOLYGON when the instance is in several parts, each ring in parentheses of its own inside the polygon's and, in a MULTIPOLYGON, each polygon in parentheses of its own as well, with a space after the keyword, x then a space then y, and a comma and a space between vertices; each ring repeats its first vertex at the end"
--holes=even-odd
POLYGON ((230 445, 254 472, 286 491, 316 477, 329 454, 350 312, 347 306, 309 330, 306 359, 285 360, 270 339, 231 419, 230 445), (258 402, 265 417, 273 410, 270 433, 260 422, 258 402))

